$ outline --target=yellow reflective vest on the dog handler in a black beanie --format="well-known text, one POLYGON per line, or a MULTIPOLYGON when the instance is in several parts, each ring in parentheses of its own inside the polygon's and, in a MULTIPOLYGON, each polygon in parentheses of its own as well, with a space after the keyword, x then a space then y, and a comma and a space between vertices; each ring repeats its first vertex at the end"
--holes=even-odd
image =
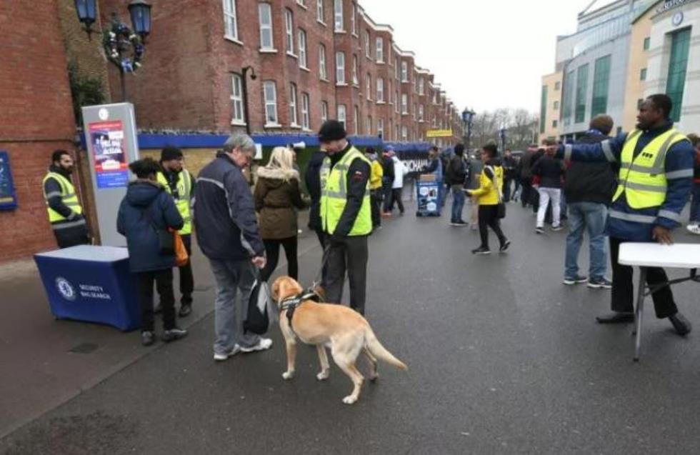
MULTIPOLYGON (((331 159, 326 156, 324 164, 321 166, 321 223, 329 234, 333 234, 338 226, 340 217, 345 210, 348 198, 348 169, 355 159, 361 159, 371 169, 369 159, 355 147, 341 158, 333 169, 331 169, 331 159)), ((372 215, 369 202, 369 178, 362 199, 359 214, 355 219, 349 236, 365 236, 372 231, 372 215)))

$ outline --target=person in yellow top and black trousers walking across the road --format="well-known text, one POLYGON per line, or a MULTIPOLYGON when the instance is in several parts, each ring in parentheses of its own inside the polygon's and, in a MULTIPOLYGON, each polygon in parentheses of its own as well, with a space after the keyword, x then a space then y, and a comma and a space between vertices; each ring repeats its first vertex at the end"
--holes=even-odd
POLYGON ((478 198, 479 201, 481 245, 479 248, 471 250, 471 253, 491 254, 491 249, 489 249, 489 227, 494 230, 499 238, 499 252, 503 253, 508 249, 511 242, 506 239, 503 231, 501 231, 501 220, 498 213, 498 205, 502 201, 503 166, 501 166, 501 160, 498 158, 496 144, 486 144, 481 149, 481 161, 484 163, 484 169, 479 176, 479 188, 465 190, 466 194, 478 198))

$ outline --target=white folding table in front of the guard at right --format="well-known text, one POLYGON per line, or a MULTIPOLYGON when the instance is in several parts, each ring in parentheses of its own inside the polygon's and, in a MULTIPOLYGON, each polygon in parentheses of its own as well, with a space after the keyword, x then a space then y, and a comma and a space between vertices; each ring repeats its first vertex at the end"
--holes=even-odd
POLYGON ((666 284, 681 283, 683 281, 700 281, 696 276, 696 269, 700 269, 700 244, 673 244, 661 245, 657 243, 629 242, 620 245, 618 258, 620 264, 626 266, 639 266, 639 285, 637 291, 637 304, 634 312, 634 324, 636 339, 634 343, 634 361, 639 361, 639 347, 641 346, 641 315, 644 308, 644 297, 665 287, 666 284), (649 289, 646 286, 646 270, 649 267, 663 267, 664 269, 690 269, 687 278, 669 280, 665 284, 649 289))

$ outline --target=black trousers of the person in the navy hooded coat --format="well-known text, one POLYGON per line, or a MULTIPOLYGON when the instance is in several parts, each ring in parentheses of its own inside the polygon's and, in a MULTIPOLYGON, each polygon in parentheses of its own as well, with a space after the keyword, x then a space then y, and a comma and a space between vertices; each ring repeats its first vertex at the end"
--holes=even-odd
POLYGON ((141 330, 153 331, 153 282, 161 297, 163 306, 163 328, 175 326, 175 291, 173 289, 173 269, 140 271, 136 273, 139 283, 139 304, 141 304, 141 330))

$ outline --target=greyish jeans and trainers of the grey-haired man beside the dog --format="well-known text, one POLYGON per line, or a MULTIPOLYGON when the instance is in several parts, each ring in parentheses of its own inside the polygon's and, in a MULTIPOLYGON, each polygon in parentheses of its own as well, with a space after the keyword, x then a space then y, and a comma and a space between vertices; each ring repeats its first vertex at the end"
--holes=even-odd
POLYGON ((243 333, 243 321, 248 314, 248 301, 255 283, 254 265, 249 259, 240 261, 209 259, 216 280, 214 301, 214 354, 226 354, 236 344, 251 347, 258 344, 256 334, 243 333), (241 290, 241 301, 236 305, 236 294, 241 290))

